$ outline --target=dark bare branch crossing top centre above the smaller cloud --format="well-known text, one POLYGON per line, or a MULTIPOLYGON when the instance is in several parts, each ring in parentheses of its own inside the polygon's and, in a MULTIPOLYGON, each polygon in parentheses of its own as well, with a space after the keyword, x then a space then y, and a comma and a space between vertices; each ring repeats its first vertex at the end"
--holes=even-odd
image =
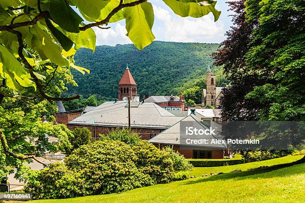
POLYGON ((116 14, 117 12, 119 12, 122 8, 125 8, 125 7, 131 7, 131 6, 135 6, 135 5, 138 5, 140 3, 143 3, 143 2, 146 2, 147 0, 137 0, 137 1, 134 1, 134 2, 131 2, 131 3, 123 3, 123 0, 120 1, 120 4, 115 7, 109 14, 108 16, 104 19, 104 20, 101 20, 101 21, 98 21, 98 22, 93 22, 93 23, 89 23, 83 27, 79 27, 80 30, 84 31, 90 27, 97 27, 99 25, 103 25, 103 24, 106 24, 109 22, 110 18, 116 14))

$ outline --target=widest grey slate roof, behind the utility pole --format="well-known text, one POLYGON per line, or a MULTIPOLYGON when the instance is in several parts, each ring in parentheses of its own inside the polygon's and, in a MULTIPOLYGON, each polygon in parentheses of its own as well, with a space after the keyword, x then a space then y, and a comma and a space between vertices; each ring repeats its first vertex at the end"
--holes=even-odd
MULTIPOLYGON (((131 102, 131 106, 131 127, 166 129, 184 118, 175 116, 152 102, 131 102)), ((68 124, 126 127, 128 126, 127 103, 105 102, 68 124)))

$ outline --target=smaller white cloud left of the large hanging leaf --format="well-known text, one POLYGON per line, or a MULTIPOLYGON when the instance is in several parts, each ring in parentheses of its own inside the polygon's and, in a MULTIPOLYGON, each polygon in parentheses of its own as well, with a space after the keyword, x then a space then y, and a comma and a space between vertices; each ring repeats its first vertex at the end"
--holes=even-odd
POLYGON ((109 29, 94 28, 96 45, 130 44, 131 40, 126 36, 126 28, 120 23, 110 24, 109 29))

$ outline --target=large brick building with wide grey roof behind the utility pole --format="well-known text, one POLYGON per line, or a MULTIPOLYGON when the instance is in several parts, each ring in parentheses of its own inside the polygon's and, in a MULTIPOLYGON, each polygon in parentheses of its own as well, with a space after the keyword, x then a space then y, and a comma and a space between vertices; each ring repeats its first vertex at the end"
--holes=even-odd
MULTIPOLYGON (((184 117, 175 116, 153 102, 131 102, 131 129, 150 139, 184 117)), ((109 130, 128 127, 128 102, 105 102, 67 123, 69 129, 88 127, 95 139, 109 130)))

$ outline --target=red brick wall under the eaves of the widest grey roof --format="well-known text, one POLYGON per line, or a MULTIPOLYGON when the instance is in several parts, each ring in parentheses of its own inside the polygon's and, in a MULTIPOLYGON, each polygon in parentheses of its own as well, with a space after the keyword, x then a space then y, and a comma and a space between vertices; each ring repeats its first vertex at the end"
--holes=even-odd
MULTIPOLYGON (((73 130, 75 127, 87 127, 91 133, 92 137, 94 138, 95 135, 98 139, 99 134, 108 134, 109 130, 114 130, 116 127, 107 127, 107 126, 92 126, 92 125, 74 125, 74 124, 67 124, 68 128, 70 130, 73 130)), ((165 129, 152 129, 152 128, 132 128, 134 132, 137 132, 140 134, 142 139, 149 140, 152 137, 154 137, 156 134, 160 133, 161 131, 165 129)))

